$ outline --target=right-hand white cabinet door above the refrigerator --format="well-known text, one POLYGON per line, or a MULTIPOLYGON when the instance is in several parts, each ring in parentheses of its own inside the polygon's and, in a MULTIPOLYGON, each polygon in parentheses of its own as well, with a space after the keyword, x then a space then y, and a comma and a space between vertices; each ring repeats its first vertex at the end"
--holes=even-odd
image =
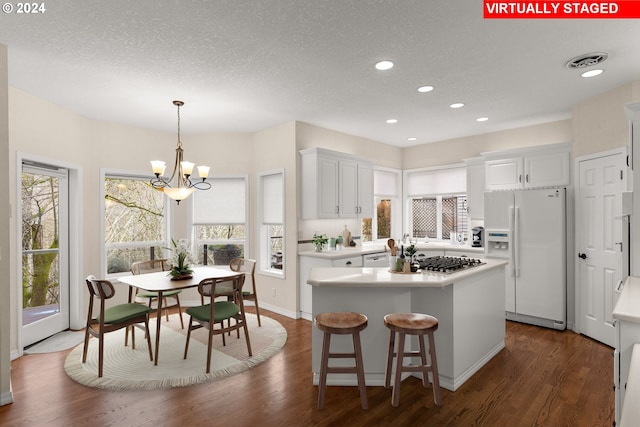
POLYGON ((569 153, 525 157, 525 188, 569 185, 569 153))

